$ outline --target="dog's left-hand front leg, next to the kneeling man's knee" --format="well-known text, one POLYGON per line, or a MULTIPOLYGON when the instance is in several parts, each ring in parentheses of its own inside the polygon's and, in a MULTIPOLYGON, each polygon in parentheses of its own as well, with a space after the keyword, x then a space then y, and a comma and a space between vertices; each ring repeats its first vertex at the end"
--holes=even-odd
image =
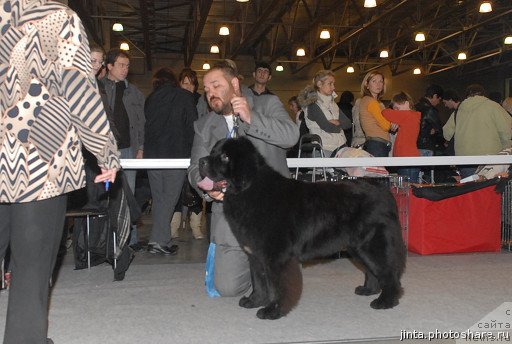
POLYGON ((249 255, 251 267, 252 293, 244 296, 238 302, 240 307, 256 308, 269 303, 268 282, 263 264, 253 255, 249 255))

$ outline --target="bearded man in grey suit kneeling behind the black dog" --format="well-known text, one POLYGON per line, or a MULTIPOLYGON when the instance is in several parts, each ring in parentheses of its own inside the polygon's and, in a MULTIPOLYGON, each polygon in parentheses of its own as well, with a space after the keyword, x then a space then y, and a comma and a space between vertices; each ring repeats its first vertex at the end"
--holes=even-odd
MULTIPOLYGON (((190 159, 189 180, 197 188, 201 180, 198 161, 210 154, 217 141, 238 135, 247 136, 267 162, 289 177, 286 149, 299 138, 299 128, 290 119, 275 95, 264 95, 257 104, 241 96, 240 81, 235 70, 225 62, 210 69, 203 78, 204 91, 212 108, 209 114, 194 123, 195 137, 190 159)), ((240 296, 251 287, 251 274, 246 253, 240 248, 224 217, 224 193, 197 188, 207 201, 213 201, 211 242, 215 243, 215 289, 221 296, 240 296)))

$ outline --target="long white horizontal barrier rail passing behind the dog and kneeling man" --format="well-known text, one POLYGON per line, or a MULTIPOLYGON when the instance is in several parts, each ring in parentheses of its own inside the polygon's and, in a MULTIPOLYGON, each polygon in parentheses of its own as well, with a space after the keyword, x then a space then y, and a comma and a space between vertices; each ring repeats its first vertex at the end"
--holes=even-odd
MULTIPOLYGON (((357 166, 441 166, 441 165, 509 165, 512 155, 429 156, 395 158, 290 158, 289 168, 357 167, 357 166)), ((183 169, 190 159, 121 159, 121 166, 132 169, 183 169)))

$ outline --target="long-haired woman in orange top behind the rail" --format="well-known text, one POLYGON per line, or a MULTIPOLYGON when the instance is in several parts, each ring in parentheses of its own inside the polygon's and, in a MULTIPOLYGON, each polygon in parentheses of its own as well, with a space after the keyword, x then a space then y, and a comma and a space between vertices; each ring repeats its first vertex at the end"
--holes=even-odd
POLYGON ((371 71, 361 83, 361 102, 359 105, 361 127, 366 135, 364 149, 375 157, 386 157, 391 150, 390 132, 398 125, 382 116, 384 104, 380 101, 385 92, 384 75, 371 71))

